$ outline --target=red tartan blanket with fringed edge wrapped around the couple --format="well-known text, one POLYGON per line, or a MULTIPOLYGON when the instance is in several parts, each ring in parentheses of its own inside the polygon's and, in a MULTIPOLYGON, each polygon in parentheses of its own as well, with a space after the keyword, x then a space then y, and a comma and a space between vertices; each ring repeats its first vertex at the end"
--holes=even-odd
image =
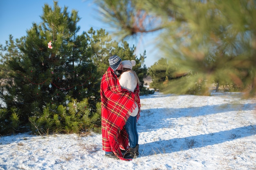
MULTIPOLYGON (((129 112, 139 102, 139 85, 134 93, 122 89, 117 75, 109 67, 101 79, 101 128, 102 147, 104 151, 113 152, 119 159, 123 158, 120 148, 128 148, 128 134, 124 128, 129 112)), ((137 115, 139 119, 139 113, 137 115)))

